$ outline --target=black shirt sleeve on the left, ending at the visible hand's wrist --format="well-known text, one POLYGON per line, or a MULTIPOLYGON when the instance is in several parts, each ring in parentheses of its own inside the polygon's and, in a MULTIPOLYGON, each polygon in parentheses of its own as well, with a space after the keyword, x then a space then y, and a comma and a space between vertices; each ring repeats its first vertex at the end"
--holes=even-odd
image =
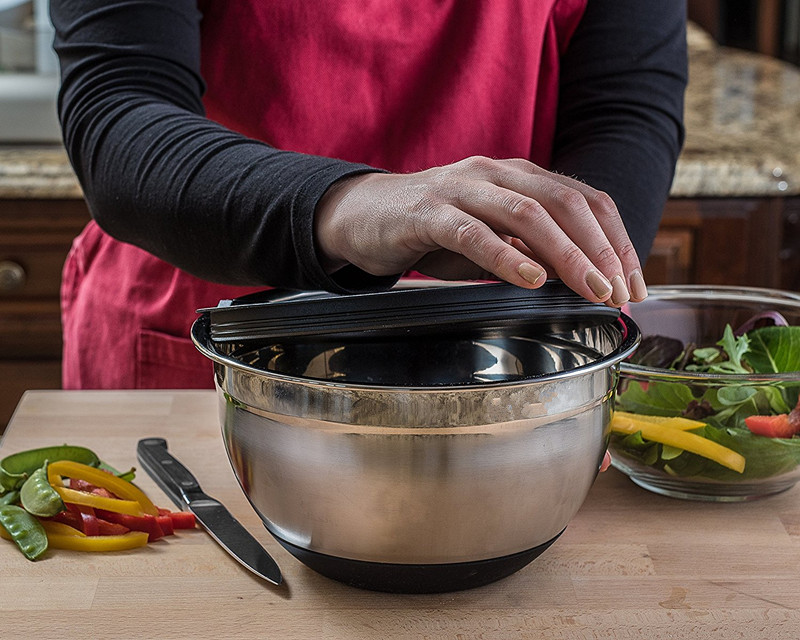
POLYGON ((110 235, 227 284, 385 288, 346 267, 325 274, 317 201, 364 165, 281 151, 204 117, 193 0, 53 0, 67 152, 110 235))

